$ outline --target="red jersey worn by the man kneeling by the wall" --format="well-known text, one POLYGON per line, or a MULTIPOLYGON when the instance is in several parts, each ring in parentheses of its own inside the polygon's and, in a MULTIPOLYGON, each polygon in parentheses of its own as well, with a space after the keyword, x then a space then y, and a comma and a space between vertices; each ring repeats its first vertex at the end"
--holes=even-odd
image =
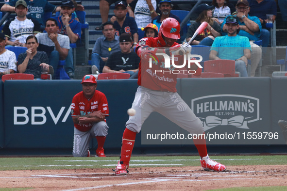
MULTIPOLYGON (((83 91, 79 92, 73 97, 71 114, 72 116, 86 115, 94 111, 100 111, 103 115, 109 116, 109 107, 106 96, 96 90, 94 96, 88 100, 83 91)), ((94 124, 74 124, 75 127, 80 131, 88 131, 94 124)))

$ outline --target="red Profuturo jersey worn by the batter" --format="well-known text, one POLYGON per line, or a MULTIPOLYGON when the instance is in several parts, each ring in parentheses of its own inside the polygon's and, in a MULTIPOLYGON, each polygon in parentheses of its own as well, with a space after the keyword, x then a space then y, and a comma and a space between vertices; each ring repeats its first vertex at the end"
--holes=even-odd
MULTIPOLYGON (((178 45, 178 43, 174 43, 172 47, 178 45)), ((162 48, 161 44, 158 42, 158 37, 156 38, 142 38, 136 46, 136 50, 139 47, 151 47, 151 48, 162 48)), ((149 67, 149 58, 144 59, 145 55, 139 55, 141 57, 139 67, 138 67, 138 80, 137 84, 151 90, 157 91, 169 91, 176 92, 176 79, 177 74, 171 73, 170 68, 164 68, 164 59, 159 60, 159 64, 152 64, 152 67, 149 67), (158 70, 162 70, 165 72, 155 72, 158 70), (170 73, 169 73, 170 72, 170 73)), ((182 56, 181 56, 182 57, 182 56)), ((174 61, 179 61, 180 59, 177 56, 174 56, 174 61)), ((183 59, 181 59, 183 61, 183 59)), ((171 62, 170 62, 171 64, 171 62)))

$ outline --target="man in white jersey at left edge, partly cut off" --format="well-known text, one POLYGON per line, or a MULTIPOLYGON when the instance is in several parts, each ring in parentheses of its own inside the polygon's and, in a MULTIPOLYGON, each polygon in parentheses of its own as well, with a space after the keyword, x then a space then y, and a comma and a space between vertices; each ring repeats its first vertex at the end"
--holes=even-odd
POLYGON ((14 52, 5 49, 7 38, 0 32, 0 79, 4 74, 17 72, 17 61, 14 52))

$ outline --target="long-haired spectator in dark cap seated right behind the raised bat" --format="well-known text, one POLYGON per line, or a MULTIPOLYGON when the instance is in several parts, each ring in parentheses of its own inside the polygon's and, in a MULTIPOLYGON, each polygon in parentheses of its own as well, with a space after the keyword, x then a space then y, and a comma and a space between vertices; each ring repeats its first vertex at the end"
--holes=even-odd
POLYGON ((192 22, 188 27, 186 34, 186 42, 188 42, 193 36, 197 28, 205 21, 208 23, 204 32, 197 35, 191 42, 192 45, 211 46, 214 38, 221 36, 221 28, 218 22, 212 19, 212 9, 214 6, 208 6, 207 4, 201 4, 197 7, 196 13, 199 15, 195 22, 192 22))

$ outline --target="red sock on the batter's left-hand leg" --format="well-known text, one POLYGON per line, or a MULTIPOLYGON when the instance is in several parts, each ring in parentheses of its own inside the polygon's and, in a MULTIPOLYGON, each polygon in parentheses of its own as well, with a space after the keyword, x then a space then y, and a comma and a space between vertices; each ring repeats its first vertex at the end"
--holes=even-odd
POLYGON ((135 144, 136 132, 125 129, 122 135, 122 145, 120 152, 120 161, 129 166, 132 151, 135 144))

